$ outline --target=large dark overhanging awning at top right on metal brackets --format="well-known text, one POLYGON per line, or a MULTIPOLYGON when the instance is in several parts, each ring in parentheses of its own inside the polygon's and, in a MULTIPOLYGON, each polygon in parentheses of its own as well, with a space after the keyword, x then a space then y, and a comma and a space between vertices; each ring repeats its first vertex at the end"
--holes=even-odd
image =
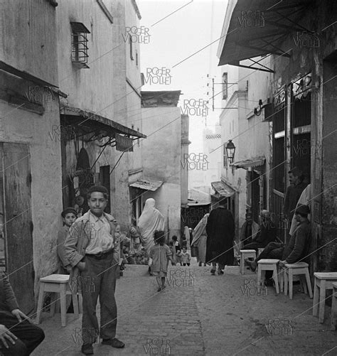
MULTIPOLYGON (((289 57, 291 48, 280 46, 289 33, 310 32, 299 22, 311 3, 314 1, 229 1, 218 48, 218 65, 240 65, 240 60, 270 53, 289 57)), ((272 71, 263 67, 260 70, 272 71)))

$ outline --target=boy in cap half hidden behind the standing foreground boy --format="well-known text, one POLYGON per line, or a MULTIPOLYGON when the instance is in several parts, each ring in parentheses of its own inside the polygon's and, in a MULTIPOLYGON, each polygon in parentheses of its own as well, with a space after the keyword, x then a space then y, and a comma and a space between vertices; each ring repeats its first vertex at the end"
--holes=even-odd
POLYGON ((77 217, 77 212, 73 207, 67 207, 61 212, 63 217, 63 227, 58 231, 58 259, 60 260, 60 274, 70 274, 71 265, 68 258, 65 255, 65 238, 69 232, 70 226, 73 225, 77 217))

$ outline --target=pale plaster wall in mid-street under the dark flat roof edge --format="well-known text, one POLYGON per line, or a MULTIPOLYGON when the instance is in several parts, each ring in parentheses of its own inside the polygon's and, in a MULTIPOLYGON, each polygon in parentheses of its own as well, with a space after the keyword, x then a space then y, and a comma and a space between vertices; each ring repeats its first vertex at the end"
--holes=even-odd
POLYGON ((164 181, 154 194, 144 194, 144 201, 156 200, 171 236, 178 234, 181 219, 181 112, 177 107, 143 108, 142 119, 148 135, 142 142, 144 178, 164 181))

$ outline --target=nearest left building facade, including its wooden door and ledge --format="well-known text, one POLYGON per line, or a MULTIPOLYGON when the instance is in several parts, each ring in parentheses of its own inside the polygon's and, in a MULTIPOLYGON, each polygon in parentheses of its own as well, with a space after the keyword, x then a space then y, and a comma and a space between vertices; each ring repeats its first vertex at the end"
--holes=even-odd
POLYGON ((1 1, 1 269, 25 313, 56 264, 62 211, 56 11, 54 1, 1 1))

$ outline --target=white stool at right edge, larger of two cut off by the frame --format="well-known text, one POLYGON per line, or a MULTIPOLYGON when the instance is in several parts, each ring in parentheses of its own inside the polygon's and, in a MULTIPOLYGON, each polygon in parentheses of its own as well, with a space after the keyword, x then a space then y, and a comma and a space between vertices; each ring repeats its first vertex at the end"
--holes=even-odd
POLYGON ((333 282, 337 282, 337 272, 315 272, 314 273, 314 305, 312 315, 317 315, 319 309, 319 322, 324 321, 324 307, 326 289, 332 289, 333 282))

